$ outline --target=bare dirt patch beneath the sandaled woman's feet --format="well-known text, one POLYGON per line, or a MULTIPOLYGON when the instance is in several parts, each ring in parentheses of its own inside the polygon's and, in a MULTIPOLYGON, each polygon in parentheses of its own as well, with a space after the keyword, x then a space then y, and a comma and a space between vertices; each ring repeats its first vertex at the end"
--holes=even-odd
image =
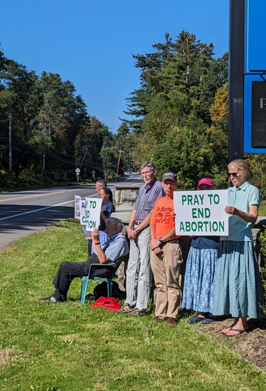
POLYGON ((226 337, 221 333, 223 328, 232 324, 232 319, 213 322, 209 325, 199 324, 197 327, 204 332, 209 332, 219 341, 227 341, 230 347, 237 351, 246 360, 251 361, 259 369, 266 371, 266 320, 249 319, 249 330, 235 337, 226 337))

